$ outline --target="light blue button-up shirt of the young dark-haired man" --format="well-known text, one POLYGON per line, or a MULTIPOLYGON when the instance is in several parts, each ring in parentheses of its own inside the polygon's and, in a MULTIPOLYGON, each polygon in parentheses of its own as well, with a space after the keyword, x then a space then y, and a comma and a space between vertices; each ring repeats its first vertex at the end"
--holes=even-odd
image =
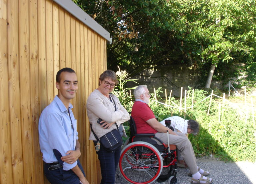
MULTIPOLYGON (((39 143, 46 163, 57 161, 53 149, 57 149, 62 156, 66 156, 69 150, 75 150, 78 132, 72 108, 73 106, 69 104, 67 110, 56 95, 39 118, 39 143)), ((64 162, 63 169, 70 170, 76 165, 77 161, 73 164, 64 162)))

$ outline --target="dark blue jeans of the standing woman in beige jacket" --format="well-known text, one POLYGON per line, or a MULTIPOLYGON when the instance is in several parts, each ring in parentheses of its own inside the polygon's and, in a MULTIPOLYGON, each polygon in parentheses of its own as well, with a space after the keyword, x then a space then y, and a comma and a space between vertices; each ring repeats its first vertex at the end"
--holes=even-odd
MULTIPOLYGON (((97 142, 97 141, 96 141, 97 142)), ((96 145, 96 143, 94 142, 96 145)), ((121 154, 121 146, 115 151, 107 151, 101 145, 100 150, 96 153, 98 154, 98 159, 100 160, 100 169, 101 169, 101 184, 114 184, 116 168, 119 162, 121 154)))

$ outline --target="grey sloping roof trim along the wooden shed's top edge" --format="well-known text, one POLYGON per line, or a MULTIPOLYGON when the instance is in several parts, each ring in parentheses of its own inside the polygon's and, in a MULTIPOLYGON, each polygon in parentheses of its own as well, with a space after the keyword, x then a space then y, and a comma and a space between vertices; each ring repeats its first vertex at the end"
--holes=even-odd
POLYGON ((81 8, 79 8, 72 0, 53 0, 62 8, 67 10, 70 14, 75 16, 86 26, 91 28, 93 31, 98 33, 100 36, 107 40, 107 44, 112 43, 112 38, 110 38, 110 33, 107 32, 101 25, 99 25, 93 18, 91 18, 87 13, 85 13, 81 8))

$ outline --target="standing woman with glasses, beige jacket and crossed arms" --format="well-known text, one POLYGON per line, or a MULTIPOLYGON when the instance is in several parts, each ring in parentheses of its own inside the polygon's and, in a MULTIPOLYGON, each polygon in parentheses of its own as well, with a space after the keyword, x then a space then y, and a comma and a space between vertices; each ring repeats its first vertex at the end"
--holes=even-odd
MULTIPOLYGON (((87 99, 87 116, 91 124, 91 129, 98 138, 119 128, 126 137, 123 124, 130 119, 129 113, 121 105, 118 98, 110 94, 118 84, 118 79, 114 71, 106 70, 99 77, 99 87, 95 89, 87 99)), ((120 158, 121 146, 115 151, 107 151, 95 138, 91 132, 90 140, 94 141, 96 153, 100 160, 101 184, 115 183, 115 171, 120 158)))

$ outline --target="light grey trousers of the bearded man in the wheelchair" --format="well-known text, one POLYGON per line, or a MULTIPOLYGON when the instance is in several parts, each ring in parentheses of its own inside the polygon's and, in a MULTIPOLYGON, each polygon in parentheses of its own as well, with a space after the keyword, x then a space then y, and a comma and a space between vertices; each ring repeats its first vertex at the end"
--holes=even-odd
MULTIPOLYGON (((177 149, 180 150, 180 154, 183 157, 184 161, 188 165, 188 168, 192 174, 195 174, 198 171, 196 164, 196 157, 193 150, 193 146, 190 140, 186 137, 185 134, 180 132, 175 132, 178 136, 169 134, 170 144, 175 144, 177 149)), ((156 133, 155 136, 162 140, 165 144, 168 144, 167 134, 166 133, 156 133)), ((157 141, 157 140, 156 140, 157 141)), ((158 144, 161 144, 157 141, 158 144)))

